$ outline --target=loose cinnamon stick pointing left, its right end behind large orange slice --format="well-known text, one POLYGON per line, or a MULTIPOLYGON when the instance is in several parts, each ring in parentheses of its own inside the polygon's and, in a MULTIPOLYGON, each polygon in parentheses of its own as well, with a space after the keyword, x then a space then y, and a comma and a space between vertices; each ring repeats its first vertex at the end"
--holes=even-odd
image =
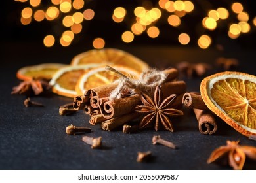
POLYGON ((188 108, 197 108, 201 110, 208 110, 209 108, 203 102, 203 99, 200 94, 196 93, 184 93, 182 98, 182 103, 185 107, 188 108))

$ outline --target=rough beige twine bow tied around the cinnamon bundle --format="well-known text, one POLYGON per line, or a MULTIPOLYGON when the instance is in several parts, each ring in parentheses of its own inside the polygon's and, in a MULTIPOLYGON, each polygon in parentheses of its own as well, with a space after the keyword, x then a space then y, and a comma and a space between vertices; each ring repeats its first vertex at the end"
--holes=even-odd
POLYGON ((119 80, 116 80, 118 82, 117 87, 110 93, 110 100, 121 98, 122 93, 125 91, 131 92, 131 95, 135 93, 148 93, 154 90, 156 86, 161 85, 167 77, 166 73, 157 69, 149 69, 141 73, 139 79, 128 78, 108 65, 106 70, 112 71, 120 77, 119 80))

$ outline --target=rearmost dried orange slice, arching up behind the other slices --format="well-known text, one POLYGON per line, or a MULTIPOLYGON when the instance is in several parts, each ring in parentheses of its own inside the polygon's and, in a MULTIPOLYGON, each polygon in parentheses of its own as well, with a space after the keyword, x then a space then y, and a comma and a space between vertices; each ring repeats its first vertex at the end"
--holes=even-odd
POLYGON ((140 73, 148 69, 148 64, 141 59, 116 48, 93 49, 83 52, 75 56, 70 64, 81 65, 88 63, 101 63, 110 66, 123 65, 124 67, 130 67, 140 73))

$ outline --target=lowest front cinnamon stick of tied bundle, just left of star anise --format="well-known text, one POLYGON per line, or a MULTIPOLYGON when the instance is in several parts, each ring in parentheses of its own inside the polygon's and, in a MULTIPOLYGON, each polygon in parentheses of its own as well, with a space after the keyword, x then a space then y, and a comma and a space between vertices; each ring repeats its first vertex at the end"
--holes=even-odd
POLYGON ((117 116, 115 118, 111 118, 109 120, 106 120, 102 122, 102 129, 112 131, 113 129, 116 129, 117 127, 126 124, 127 122, 130 122, 131 120, 134 120, 135 118, 139 117, 139 113, 137 112, 132 112, 132 113, 127 113, 123 114, 122 116, 117 116))

